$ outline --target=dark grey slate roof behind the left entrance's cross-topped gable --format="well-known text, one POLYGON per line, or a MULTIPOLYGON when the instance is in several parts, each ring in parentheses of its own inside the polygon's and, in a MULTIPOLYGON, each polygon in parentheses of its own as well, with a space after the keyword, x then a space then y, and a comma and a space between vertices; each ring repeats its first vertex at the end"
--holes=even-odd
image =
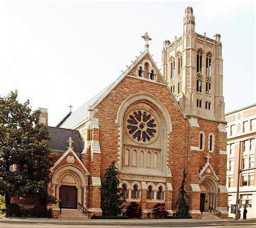
POLYGON ((51 133, 51 140, 48 141, 48 145, 53 151, 66 152, 69 146, 68 140, 71 137, 73 151, 77 154, 82 153, 83 143, 79 131, 58 127, 49 127, 49 131, 51 133))

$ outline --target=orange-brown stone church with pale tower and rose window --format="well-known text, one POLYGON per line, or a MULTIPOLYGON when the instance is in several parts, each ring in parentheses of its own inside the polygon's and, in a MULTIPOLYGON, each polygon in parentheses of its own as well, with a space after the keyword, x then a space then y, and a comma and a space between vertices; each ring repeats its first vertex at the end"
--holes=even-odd
MULTIPOLYGON (((50 205, 53 217, 72 218, 78 209, 102 215, 100 186, 113 161, 126 205, 140 204, 143 218, 157 203, 176 213, 184 169, 190 215, 200 219, 211 210, 227 217, 220 35, 197 34, 191 7, 183 26, 180 37, 164 41, 163 74, 146 33, 145 51, 116 81, 49 127, 56 158, 49 191, 62 202, 62 214, 59 204, 50 205)), ((41 112, 47 124, 47 110, 41 112)))

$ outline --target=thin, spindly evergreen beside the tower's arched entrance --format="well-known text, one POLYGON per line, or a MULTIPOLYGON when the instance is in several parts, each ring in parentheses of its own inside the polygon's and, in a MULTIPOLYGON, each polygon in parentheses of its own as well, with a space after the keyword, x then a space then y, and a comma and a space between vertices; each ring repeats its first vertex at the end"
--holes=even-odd
POLYGON ((187 172, 184 169, 183 170, 183 180, 182 180, 181 186, 179 188, 179 198, 178 198, 178 201, 177 201, 177 205, 179 206, 179 209, 176 213, 176 216, 179 216, 179 217, 188 216, 189 207, 188 207, 186 199, 188 199, 189 196, 187 195, 186 190, 185 190, 186 177, 187 177, 187 172))

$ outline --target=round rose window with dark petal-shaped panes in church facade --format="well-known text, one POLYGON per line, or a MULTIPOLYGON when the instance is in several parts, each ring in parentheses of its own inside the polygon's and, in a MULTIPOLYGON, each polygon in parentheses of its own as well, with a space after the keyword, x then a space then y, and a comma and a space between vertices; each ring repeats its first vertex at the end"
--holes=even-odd
POLYGON ((154 119, 146 111, 143 113, 140 110, 138 112, 134 111, 129 116, 127 123, 127 129, 129 129, 132 138, 138 141, 150 141, 150 139, 154 137, 154 133, 157 132, 157 125, 154 124, 154 119))

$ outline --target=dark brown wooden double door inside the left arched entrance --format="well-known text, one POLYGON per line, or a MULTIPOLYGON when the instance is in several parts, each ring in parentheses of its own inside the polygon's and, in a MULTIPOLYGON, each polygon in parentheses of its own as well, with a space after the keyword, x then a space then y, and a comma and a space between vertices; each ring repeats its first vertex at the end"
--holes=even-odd
POLYGON ((75 186, 60 186, 59 200, 62 208, 77 209, 77 188, 75 186))

